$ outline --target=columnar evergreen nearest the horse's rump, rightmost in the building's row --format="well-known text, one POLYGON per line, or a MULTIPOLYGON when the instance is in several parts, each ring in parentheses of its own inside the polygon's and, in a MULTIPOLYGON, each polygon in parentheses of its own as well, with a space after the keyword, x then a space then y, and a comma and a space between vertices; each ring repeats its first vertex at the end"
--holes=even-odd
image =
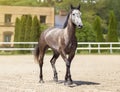
POLYGON ((40 36, 40 22, 39 22, 37 16, 34 16, 34 18, 33 18, 31 29, 32 29, 31 34, 30 34, 31 41, 36 42, 36 41, 38 41, 39 36, 40 36))

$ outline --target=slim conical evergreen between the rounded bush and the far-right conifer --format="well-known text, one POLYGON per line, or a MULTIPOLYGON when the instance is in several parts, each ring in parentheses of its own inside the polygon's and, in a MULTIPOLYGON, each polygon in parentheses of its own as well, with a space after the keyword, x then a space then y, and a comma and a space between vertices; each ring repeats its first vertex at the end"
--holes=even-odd
POLYGON ((96 41, 97 42, 103 42, 103 34, 102 34, 102 26, 101 26, 101 20, 100 17, 97 16, 95 18, 94 24, 93 24, 93 29, 96 32, 96 41))

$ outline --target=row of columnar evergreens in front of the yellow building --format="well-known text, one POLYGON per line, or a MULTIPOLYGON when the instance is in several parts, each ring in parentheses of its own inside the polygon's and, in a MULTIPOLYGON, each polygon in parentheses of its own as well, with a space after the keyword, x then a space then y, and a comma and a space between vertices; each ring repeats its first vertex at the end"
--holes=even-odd
MULTIPOLYGON (((14 41, 16 42, 37 42, 41 33, 41 30, 44 30, 47 28, 46 25, 41 24, 37 18, 37 16, 34 16, 32 20, 31 15, 23 15, 21 17, 21 20, 19 18, 16 18, 15 23, 15 36, 14 41)), ((29 48, 31 45, 28 44, 18 44, 15 45, 15 47, 18 48, 29 48)), ((19 54, 25 54, 29 53, 30 51, 16 51, 16 53, 19 54)))

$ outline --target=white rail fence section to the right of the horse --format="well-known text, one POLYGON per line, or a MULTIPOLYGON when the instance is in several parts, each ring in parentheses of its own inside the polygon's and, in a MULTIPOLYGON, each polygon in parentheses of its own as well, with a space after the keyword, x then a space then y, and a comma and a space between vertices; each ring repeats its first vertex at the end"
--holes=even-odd
POLYGON ((120 42, 78 42, 78 50, 88 50, 91 53, 92 50, 97 50, 101 53, 101 50, 109 50, 113 53, 113 50, 120 50, 120 42), (86 46, 79 46, 86 45, 86 46))

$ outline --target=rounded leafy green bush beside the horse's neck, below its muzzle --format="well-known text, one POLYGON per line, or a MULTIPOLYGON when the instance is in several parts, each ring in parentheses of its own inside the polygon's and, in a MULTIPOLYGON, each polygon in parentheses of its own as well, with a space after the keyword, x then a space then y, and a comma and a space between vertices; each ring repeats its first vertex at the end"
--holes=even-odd
POLYGON ((83 29, 76 30, 76 36, 80 42, 95 42, 95 32, 90 23, 84 23, 83 29))

